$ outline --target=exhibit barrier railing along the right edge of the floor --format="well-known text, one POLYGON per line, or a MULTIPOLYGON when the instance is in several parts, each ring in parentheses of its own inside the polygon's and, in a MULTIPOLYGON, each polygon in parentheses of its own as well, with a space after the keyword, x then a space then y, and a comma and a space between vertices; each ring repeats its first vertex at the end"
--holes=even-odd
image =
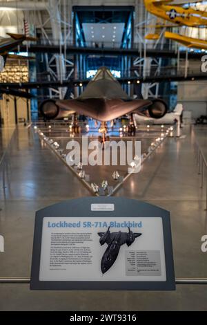
POLYGON ((199 146, 199 143, 195 140, 195 154, 198 165, 198 174, 201 175, 201 188, 204 187, 204 178, 206 177, 206 209, 207 210, 207 161, 204 156, 204 152, 199 146))

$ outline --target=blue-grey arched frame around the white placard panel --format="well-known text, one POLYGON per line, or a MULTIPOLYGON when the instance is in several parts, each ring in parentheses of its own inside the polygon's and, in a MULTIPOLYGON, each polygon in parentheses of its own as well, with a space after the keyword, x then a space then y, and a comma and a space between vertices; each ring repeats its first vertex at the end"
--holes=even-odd
POLYGON ((32 252, 31 290, 175 290, 170 212, 129 198, 86 197, 63 201, 36 212, 32 252), (92 203, 113 203, 114 211, 92 211, 92 203), (44 217, 161 217, 164 234, 166 281, 39 281, 44 217))

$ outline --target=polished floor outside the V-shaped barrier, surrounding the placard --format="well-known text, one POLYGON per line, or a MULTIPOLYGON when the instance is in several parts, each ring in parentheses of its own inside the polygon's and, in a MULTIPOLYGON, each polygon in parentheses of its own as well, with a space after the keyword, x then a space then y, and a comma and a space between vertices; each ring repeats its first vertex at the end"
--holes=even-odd
MULTIPOLYGON (((176 277, 207 277, 207 253, 200 249, 206 192, 193 147, 196 137, 206 149, 206 129, 186 128, 185 139, 166 139, 116 194, 170 210, 176 277)), ((28 277, 35 211, 90 192, 31 129, 21 127, 8 139, 0 166, 0 277, 28 277)), ((26 284, 0 284, 0 310, 207 310, 207 286, 179 285, 169 293, 34 292, 26 284)))

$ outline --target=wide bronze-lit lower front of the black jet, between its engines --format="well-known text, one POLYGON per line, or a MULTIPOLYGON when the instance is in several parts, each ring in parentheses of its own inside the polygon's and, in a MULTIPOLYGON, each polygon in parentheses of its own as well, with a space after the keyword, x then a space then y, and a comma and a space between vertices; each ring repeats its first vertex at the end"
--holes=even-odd
MULTIPOLYGON (((88 100, 57 100, 59 108, 65 111, 75 111, 80 115, 90 116, 95 120, 106 122, 114 120, 133 111, 139 111, 152 104, 150 100, 129 100, 124 102, 120 99, 103 100, 90 98, 88 100)), ((58 116, 59 118, 59 116, 58 116)))

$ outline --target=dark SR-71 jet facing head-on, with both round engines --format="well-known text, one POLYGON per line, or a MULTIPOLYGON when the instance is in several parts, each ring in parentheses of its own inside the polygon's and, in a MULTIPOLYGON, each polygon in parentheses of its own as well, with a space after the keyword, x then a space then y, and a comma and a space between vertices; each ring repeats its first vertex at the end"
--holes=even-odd
POLYGON ((44 118, 67 118, 71 113, 108 122, 129 113, 162 118, 168 110, 163 100, 132 99, 108 68, 101 67, 79 97, 71 100, 45 100, 40 105, 44 118))

